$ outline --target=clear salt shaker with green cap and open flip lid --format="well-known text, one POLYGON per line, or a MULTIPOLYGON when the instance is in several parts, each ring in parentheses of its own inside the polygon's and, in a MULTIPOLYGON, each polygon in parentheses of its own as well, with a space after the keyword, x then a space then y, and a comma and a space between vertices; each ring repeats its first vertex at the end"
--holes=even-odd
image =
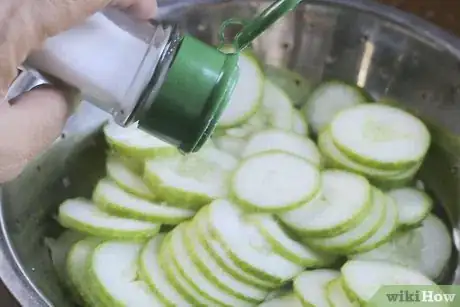
MULTIPOLYGON (((239 52, 294 9, 300 0, 278 0, 242 24, 223 53, 177 26, 140 25, 106 9, 83 25, 48 39, 26 67, 78 88, 83 99, 183 153, 198 151, 212 134, 238 81, 239 52), (105 65, 103 65, 105 64, 105 65)), ((228 20, 225 28, 235 23, 228 20)))

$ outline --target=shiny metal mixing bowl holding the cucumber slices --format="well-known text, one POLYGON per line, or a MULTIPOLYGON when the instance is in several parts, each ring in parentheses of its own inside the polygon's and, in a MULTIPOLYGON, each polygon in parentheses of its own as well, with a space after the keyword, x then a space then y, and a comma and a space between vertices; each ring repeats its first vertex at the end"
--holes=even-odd
MULTIPOLYGON (((160 2, 161 18, 176 21, 213 44, 218 43, 217 31, 223 20, 250 18, 267 4, 246 0, 160 2)), ((434 144, 420 176, 457 240, 457 38, 374 2, 318 0, 305 2, 270 28, 254 48, 264 62, 290 68, 311 85, 329 78, 343 79, 365 88, 376 99, 401 103, 423 118, 432 129, 434 144)), ((52 269, 43 239, 60 231, 53 220, 58 204, 68 197, 89 196, 103 174, 105 143, 99 128, 106 118, 85 104, 53 148, 0 190, 0 276, 23 306, 72 306, 52 269)), ((457 253, 443 282, 460 283, 457 253)))

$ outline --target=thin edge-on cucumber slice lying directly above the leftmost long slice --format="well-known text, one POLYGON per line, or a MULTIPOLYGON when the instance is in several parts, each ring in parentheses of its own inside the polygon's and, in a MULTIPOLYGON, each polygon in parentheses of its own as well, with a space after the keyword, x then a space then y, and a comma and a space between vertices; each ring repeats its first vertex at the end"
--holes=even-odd
POLYGON ((103 211, 116 216, 153 223, 175 225, 195 215, 195 211, 153 203, 125 192, 110 179, 101 179, 93 201, 103 211))

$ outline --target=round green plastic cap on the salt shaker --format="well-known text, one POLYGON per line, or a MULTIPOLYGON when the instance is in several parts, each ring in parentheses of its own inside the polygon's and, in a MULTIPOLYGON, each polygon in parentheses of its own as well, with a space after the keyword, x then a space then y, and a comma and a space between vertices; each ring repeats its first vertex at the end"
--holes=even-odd
POLYGON ((230 100, 238 80, 238 58, 185 35, 140 124, 184 153, 198 151, 230 100))

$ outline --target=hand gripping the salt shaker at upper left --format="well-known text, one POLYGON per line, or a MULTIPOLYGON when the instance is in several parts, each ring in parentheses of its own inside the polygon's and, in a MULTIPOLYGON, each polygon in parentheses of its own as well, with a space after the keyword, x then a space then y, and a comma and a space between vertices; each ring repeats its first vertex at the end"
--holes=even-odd
POLYGON ((0 184, 14 179, 24 166, 60 135, 70 115, 69 93, 39 86, 6 101, 17 67, 48 37, 84 21, 106 5, 139 19, 152 18, 156 0, 2 0, 0 2, 0 184))

